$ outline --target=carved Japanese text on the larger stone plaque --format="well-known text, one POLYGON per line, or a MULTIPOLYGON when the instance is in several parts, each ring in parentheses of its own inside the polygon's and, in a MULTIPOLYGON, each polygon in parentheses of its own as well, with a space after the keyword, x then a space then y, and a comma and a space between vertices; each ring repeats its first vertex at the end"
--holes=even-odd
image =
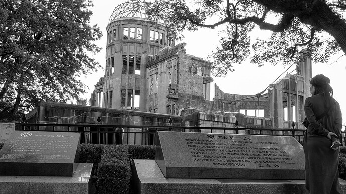
POLYGON ((204 138, 185 138, 194 162, 214 166, 279 168, 295 164, 278 142, 252 141, 247 135, 206 134, 204 138))

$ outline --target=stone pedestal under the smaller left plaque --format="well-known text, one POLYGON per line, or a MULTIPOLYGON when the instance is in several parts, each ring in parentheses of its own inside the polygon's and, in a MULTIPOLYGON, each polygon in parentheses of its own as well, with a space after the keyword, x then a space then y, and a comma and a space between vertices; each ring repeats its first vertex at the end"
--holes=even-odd
POLYGON ((0 176, 0 194, 87 194, 93 164, 79 163, 72 177, 0 176))

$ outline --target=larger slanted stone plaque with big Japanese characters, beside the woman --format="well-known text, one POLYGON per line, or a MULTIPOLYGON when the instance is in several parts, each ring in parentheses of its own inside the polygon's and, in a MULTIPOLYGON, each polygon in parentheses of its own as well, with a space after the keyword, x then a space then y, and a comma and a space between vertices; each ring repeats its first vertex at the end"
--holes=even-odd
POLYGON ((156 163, 166 178, 304 179, 293 137, 157 131, 156 163))

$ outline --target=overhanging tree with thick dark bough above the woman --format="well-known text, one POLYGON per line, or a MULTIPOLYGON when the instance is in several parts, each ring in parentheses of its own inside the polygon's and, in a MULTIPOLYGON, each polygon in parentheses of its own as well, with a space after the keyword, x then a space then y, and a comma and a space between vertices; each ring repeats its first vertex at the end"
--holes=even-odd
POLYGON ((345 0, 155 0, 150 19, 164 22, 175 38, 184 30, 214 29, 226 25, 220 46, 212 52, 213 74, 233 71, 232 64, 251 62, 262 66, 296 63, 301 53, 315 62, 346 53, 345 0), (211 20, 216 22, 210 22, 211 20), (269 30, 271 37, 250 42, 254 30, 269 30), (253 50, 253 53, 251 51, 253 50))

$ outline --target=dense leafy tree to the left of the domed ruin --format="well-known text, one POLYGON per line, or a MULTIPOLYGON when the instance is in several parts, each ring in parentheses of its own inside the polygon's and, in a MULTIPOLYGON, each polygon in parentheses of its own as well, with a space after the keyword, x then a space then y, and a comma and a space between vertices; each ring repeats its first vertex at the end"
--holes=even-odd
POLYGON ((100 65, 88 53, 100 29, 89 25, 92 0, 0 0, 0 121, 40 101, 66 102, 100 65))

